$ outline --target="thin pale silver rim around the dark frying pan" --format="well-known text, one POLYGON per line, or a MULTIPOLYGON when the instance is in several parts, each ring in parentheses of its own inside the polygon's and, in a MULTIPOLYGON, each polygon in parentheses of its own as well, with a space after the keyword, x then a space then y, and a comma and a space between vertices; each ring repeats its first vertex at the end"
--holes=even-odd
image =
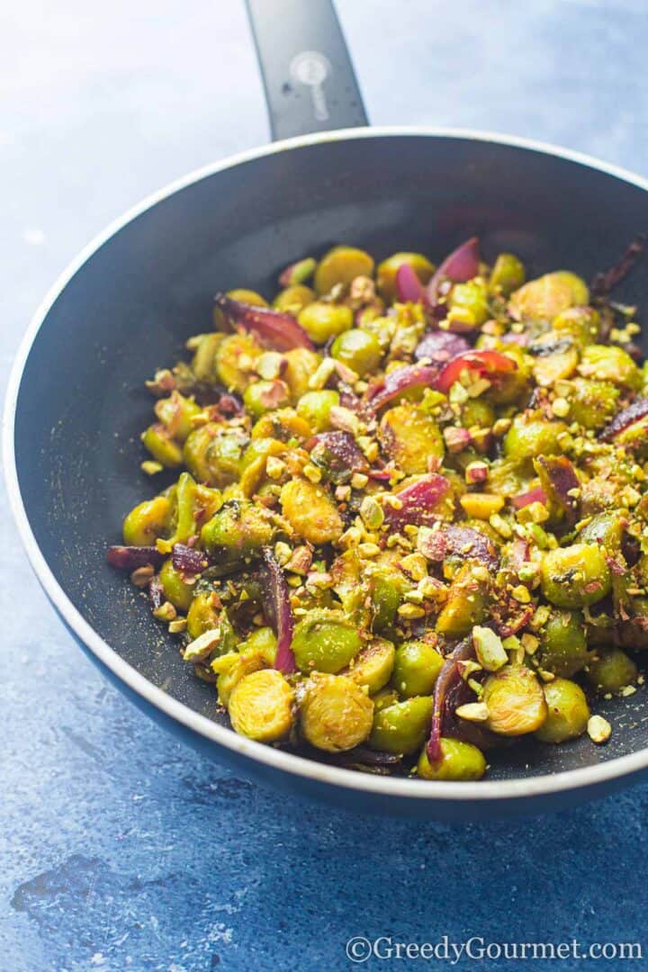
POLYGON ((625 756, 617 756, 594 766, 564 770, 556 774, 521 778, 505 781, 419 781, 394 777, 370 776, 353 770, 328 766, 290 752, 264 746, 238 736, 232 730, 218 725, 205 715, 194 712, 184 703, 173 699, 162 689, 153 685, 148 678, 140 675, 118 652, 105 642, 85 621, 81 612, 75 608, 67 594, 54 577, 47 560, 34 537, 29 518, 20 492, 15 451, 15 424, 17 397, 20 390, 23 370, 32 345, 47 320, 51 307, 65 290, 73 277, 83 268, 103 245, 120 229, 127 226, 138 216, 151 209, 156 203, 174 193, 184 190, 194 183, 222 172, 228 168, 253 161, 263 156, 271 156, 291 149, 306 148, 326 142, 353 141, 358 138, 381 138, 385 136, 412 136, 425 138, 468 139, 491 142, 495 145, 509 146, 529 152, 563 158, 588 168, 597 170, 613 178, 629 183, 638 189, 648 191, 648 179, 613 163, 603 162, 585 153, 563 149, 549 143, 496 132, 473 130, 469 128, 384 125, 365 128, 343 128, 330 132, 314 133, 275 142, 267 146, 227 156, 219 162, 202 166, 187 175, 172 181, 154 191, 143 200, 130 207, 122 216, 98 233, 83 250, 67 265, 51 286, 37 308, 31 323, 19 344, 17 356, 11 369, 3 413, 3 456, 5 480, 10 506, 17 523, 18 533, 26 550, 32 569, 41 583, 52 606, 75 636, 89 648, 97 659, 118 677, 128 688, 136 692, 144 701, 186 729, 203 739, 223 746, 240 756, 261 763, 270 770, 278 770, 297 778, 305 778, 338 788, 355 790, 394 800, 430 800, 441 803, 473 802, 496 803, 504 801, 532 800, 573 789, 596 786, 607 781, 629 776, 648 768, 648 746, 625 756))

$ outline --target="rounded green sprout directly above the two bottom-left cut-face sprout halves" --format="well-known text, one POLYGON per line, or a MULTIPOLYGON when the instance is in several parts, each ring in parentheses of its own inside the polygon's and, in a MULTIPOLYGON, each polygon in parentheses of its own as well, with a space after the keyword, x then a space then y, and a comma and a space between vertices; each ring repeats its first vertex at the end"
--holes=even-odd
POLYGON ((352 661, 362 646, 358 627, 342 612, 314 608, 296 625, 291 649, 297 667, 306 675, 336 675, 352 661))

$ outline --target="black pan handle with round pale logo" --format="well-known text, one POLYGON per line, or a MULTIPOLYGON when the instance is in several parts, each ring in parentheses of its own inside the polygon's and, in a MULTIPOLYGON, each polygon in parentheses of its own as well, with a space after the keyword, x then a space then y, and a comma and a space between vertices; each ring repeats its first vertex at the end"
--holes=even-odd
POLYGON ((367 124, 331 0, 246 0, 272 137, 367 124))

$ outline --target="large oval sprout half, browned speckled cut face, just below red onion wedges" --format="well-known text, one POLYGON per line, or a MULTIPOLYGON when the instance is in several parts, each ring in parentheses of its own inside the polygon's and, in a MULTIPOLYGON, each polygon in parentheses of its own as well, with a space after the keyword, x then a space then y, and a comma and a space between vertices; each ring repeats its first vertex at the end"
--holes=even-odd
POLYGON ((383 448, 407 475, 426 472, 428 459, 441 458, 444 454, 439 427, 417 405, 402 404, 388 409, 381 420, 379 434, 383 448))

